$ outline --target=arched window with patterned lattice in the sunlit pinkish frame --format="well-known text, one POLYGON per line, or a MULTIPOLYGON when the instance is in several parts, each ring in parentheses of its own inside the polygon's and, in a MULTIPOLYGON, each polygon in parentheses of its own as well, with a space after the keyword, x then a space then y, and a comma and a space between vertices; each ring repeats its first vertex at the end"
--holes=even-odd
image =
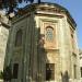
POLYGON ((51 26, 46 27, 46 40, 47 42, 54 40, 54 28, 51 26))

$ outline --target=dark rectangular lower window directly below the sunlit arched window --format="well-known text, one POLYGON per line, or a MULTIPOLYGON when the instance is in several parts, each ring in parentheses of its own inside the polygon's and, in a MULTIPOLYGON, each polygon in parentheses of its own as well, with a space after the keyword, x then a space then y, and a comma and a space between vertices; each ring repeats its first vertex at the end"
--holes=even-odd
POLYGON ((46 63, 46 81, 55 80, 55 63, 46 63))

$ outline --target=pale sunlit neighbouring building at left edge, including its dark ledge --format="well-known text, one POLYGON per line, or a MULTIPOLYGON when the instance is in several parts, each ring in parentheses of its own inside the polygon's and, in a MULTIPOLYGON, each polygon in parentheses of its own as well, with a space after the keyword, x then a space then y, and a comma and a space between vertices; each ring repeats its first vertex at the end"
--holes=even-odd
POLYGON ((4 63, 4 57, 5 57, 5 47, 9 36, 9 25, 7 16, 3 14, 3 12, 0 11, 0 71, 3 71, 3 63, 4 63))

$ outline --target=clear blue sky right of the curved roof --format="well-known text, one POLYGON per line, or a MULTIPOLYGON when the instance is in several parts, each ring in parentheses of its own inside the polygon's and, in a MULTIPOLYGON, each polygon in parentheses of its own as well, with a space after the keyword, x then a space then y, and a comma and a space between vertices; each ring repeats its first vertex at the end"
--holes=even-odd
MULTIPOLYGON (((35 0, 35 2, 37 2, 35 0)), ((42 2, 52 2, 65 7, 77 23, 77 36, 79 48, 82 49, 82 0, 42 0, 42 2)))

